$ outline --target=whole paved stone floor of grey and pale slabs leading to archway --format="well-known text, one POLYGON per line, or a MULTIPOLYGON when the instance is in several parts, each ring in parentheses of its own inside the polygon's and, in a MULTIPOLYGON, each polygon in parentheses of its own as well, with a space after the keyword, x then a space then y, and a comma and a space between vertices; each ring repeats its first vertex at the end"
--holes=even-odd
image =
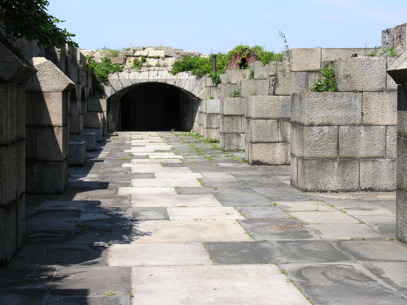
MULTIPOLYGON (((305 194, 189 134, 119 132, 27 196, 1 304, 404 304, 395 193, 305 194)), ((379 174, 378 174, 379 175, 379 174)))

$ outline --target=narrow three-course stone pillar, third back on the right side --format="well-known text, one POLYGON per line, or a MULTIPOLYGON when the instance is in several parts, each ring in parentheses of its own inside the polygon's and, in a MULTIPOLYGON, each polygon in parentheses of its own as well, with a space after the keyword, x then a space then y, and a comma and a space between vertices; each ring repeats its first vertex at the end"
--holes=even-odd
POLYGON ((245 149, 245 98, 220 99, 220 146, 226 150, 245 149))

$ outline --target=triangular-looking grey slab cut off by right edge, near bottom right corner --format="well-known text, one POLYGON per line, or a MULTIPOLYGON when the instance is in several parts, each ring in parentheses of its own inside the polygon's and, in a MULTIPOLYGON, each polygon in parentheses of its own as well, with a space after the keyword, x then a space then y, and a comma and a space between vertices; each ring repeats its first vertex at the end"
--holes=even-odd
POLYGON ((407 296, 406 262, 370 262, 362 266, 407 296))

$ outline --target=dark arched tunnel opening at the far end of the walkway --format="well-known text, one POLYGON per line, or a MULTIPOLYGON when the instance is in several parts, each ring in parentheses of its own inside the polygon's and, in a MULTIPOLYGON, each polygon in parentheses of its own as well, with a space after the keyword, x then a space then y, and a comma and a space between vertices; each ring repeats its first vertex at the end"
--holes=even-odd
POLYGON ((142 83, 126 88, 118 103, 121 131, 191 131, 196 121, 199 99, 176 86, 163 83, 142 83))

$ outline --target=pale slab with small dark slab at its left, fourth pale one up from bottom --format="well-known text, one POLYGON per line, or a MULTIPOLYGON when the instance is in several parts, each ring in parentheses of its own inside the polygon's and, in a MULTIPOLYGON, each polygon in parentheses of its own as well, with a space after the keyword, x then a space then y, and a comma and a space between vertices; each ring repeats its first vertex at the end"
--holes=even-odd
POLYGON ((171 220, 245 219, 234 207, 168 207, 171 220))

